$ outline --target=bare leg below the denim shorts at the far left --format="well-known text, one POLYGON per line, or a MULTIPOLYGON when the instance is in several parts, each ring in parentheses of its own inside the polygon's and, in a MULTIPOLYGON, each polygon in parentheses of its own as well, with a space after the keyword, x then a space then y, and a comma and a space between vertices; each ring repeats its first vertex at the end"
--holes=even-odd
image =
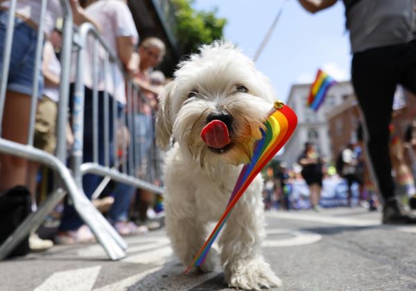
MULTIPOLYGON (((2 138, 27 143, 31 98, 8 91, 4 105, 2 138)), ((27 160, 11 155, 0 155, 0 191, 26 185, 27 160)))

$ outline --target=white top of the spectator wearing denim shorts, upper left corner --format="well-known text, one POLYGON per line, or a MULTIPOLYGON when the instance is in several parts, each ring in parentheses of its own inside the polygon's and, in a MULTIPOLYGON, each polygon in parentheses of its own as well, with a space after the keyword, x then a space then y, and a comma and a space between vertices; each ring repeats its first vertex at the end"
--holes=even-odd
MULTIPOLYGON (((31 19, 39 26, 41 0, 19 0, 16 3, 16 14, 26 19, 31 19)), ((10 8, 10 1, 1 3, 2 8, 10 8)), ((48 0, 44 19, 44 33, 51 34, 55 28, 56 19, 62 16, 62 9, 59 0, 48 0)))

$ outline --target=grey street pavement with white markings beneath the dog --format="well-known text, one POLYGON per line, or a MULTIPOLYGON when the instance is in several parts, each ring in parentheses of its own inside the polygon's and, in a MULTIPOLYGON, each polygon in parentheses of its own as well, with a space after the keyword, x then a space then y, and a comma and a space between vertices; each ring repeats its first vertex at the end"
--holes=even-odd
MULTIPOLYGON (((263 254, 283 281, 273 290, 416 290, 416 227, 380 224, 361 207, 269 211, 263 254)), ((1 291, 233 290, 223 273, 185 275, 164 229, 125 238, 128 256, 100 245, 55 246, 0 263, 1 291)))

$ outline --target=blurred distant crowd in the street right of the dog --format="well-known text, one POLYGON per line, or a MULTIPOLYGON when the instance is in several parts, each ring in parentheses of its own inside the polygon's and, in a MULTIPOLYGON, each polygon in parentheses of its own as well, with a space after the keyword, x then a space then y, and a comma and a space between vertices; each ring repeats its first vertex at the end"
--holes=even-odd
MULTIPOLYGON (((415 121, 400 133, 393 123, 390 124, 388 148, 396 185, 395 195, 409 209, 416 209, 415 132, 415 121)), ((263 173, 266 210, 320 211, 322 206, 363 206, 370 211, 379 209, 382 200, 365 159, 361 124, 356 136, 356 141, 347 143, 331 160, 320 157, 315 145, 306 142, 297 163, 290 167, 279 161, 268 164, 263 173)))

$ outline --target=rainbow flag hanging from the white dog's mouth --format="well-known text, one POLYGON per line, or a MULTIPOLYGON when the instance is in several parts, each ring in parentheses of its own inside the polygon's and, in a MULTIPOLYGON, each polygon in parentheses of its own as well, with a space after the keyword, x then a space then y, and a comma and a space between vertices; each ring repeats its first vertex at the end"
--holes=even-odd
POLYGON ((211 232, 211 235, 207 238, 204 245, 202 245, 200 251, 193 259, 191 265, 185 270, 185 273, 189 272, 191 267, 199 266, 204 263, 209 249, 211 249, 211 245, 214 243, 214 240, 216 240, 218 233, 220 233, 220 230, 223 228, 232 209, 239 201, 244 191, 248 188, 257 174, 259 174, 260 170, 276 155, 295 131, 297 116, 290 107, 277 101, 264 125, 266 130, 261 130, 262 137, 254 145, 250 164, 246 164, 241 170, 236 186, 234 186, 232 195, 229 198, 227 208, 216 224, 216 227, 211 232))

